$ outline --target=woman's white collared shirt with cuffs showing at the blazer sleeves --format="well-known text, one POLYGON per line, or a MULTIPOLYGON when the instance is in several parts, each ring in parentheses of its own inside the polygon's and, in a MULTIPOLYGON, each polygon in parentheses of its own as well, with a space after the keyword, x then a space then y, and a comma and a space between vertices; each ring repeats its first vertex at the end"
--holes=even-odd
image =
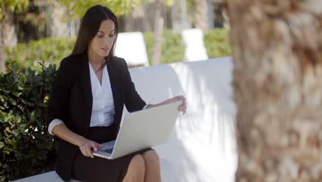
MULTIPOLYGON (((107 68, 104 67, 102 85, 100 85, 92 65, 89 62, 88 64, 93 96, 92 115, 89 127, 111 125, 114 121, 115 109, 111 83, 109 81, 109 73, 107 68)), ((142 110, 147 109, 149 105, 151 104, 144 105, 142 110)), ((52 120, 48 126, 48 132, 54 135, 54 133, 52 133, 54 127, 63 123, 64 122, 61 119, 52 120)))

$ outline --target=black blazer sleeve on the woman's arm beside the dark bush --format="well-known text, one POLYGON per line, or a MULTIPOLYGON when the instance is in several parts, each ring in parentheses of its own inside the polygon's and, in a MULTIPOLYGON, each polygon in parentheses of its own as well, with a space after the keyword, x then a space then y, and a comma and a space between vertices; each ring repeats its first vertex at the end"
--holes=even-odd
POLYGON ((71 60, 65 58, 61 61, 56 77, 52 83, 52 90, 50 92, 50 99, 47 106, 47 114, 45 121, 47 127, 54 119, 65 120, 67 112, 67 103, 69 101, 70 88, 74 75, 72 67, 70 66, 71 60))

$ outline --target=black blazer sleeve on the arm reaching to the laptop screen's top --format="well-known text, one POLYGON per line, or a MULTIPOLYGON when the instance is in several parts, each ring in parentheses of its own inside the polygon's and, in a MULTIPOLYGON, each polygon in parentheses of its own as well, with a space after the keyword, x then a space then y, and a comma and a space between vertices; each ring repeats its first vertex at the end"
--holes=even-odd
POLYGON ((147 103, 143 101, 136 91, 129 68, 127 68, 127 62, 124 59, 122 59, 122 69, 125 71, 125 107, 129 112, 142 110, 147 103))

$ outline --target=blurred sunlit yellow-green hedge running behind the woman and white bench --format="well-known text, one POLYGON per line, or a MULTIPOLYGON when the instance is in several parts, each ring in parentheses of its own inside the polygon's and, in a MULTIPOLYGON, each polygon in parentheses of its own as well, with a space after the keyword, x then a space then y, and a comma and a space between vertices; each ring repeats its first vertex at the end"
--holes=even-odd
MULTIPOLYGON (((215 28, 204 33, 204 45, 208 57, 230 56, 230 40, 228 30, 215 28)), ((149 63, 152 65, 153 54, 153 32, 144 32, 144 41, 147 47, 149 63)), ((74 39, 47 37, 29 43, 19 43, 11 51, 6 49, 6 66, 17 66, 17 68, 40 69, 38 61, 55 63, 59 65, 63 57, 67 57, 72 52, 74 39)), ((170 30, 165 30, 162 34, 162 53, 160 63, 173 63, 184 60, 184 44, 181 34, 175 34, 170 30)))

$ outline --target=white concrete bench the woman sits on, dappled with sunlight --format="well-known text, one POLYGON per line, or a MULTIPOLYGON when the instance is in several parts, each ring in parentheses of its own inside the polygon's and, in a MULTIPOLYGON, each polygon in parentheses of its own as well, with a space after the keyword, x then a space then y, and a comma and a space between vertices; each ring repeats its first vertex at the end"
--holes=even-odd
MULTIPOLYGON (((162 181, 235 181, 235 103, 230 57, 157 65, 130 70, 147 103, 183 94, 188 110, 180 114, 169 142, 155 147, 162 181)), ((56 172, 22 179, 59 181, 56 172)))

